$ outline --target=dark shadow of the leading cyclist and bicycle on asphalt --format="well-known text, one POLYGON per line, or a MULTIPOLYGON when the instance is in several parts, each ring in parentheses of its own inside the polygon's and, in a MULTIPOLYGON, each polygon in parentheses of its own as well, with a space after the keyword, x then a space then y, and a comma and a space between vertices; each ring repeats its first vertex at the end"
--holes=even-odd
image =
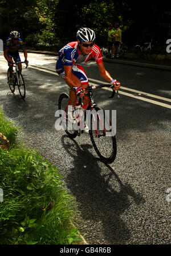
POLYGON ((86 232, 88 230, 91 234, 87 234, 85 238, 91 239, 88 242, 95 244, 127 242, 131 232, 120 215, 131 205, 128 196, 136 204, 143 199, 129 184, 123 184, 109 165, 101 164, 92 155, 90 144, 79 145, 76 140, 67 136, 62 137, 62 143, 73 159, 71 166, 74 167, 68 170, 65 181, 78 202, 83 219, 81 226, 86 226, 86 232), (104 241, 100 237, 98 239, 100 233, 103 233, 104 241))

